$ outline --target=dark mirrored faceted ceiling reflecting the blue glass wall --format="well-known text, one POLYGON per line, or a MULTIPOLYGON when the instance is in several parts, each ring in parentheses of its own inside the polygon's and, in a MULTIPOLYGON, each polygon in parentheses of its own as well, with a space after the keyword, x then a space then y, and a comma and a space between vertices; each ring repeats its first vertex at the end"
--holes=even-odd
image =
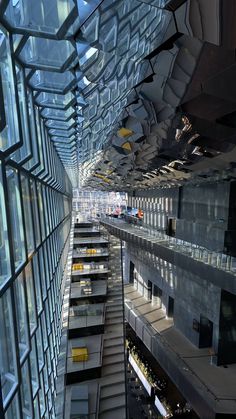
POLYGON ((12 53, 73 186, 153 188, 234 173, 233 7, 0 2, 12 53))

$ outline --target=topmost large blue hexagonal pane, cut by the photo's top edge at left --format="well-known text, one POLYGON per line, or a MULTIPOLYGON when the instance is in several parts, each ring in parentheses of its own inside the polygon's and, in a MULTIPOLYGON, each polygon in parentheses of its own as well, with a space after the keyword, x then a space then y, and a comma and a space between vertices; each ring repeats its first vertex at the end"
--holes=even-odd
POLYGON ((10 0, 4 17, 12 28, 56 35, 74 9, 72 0, 10 0))

